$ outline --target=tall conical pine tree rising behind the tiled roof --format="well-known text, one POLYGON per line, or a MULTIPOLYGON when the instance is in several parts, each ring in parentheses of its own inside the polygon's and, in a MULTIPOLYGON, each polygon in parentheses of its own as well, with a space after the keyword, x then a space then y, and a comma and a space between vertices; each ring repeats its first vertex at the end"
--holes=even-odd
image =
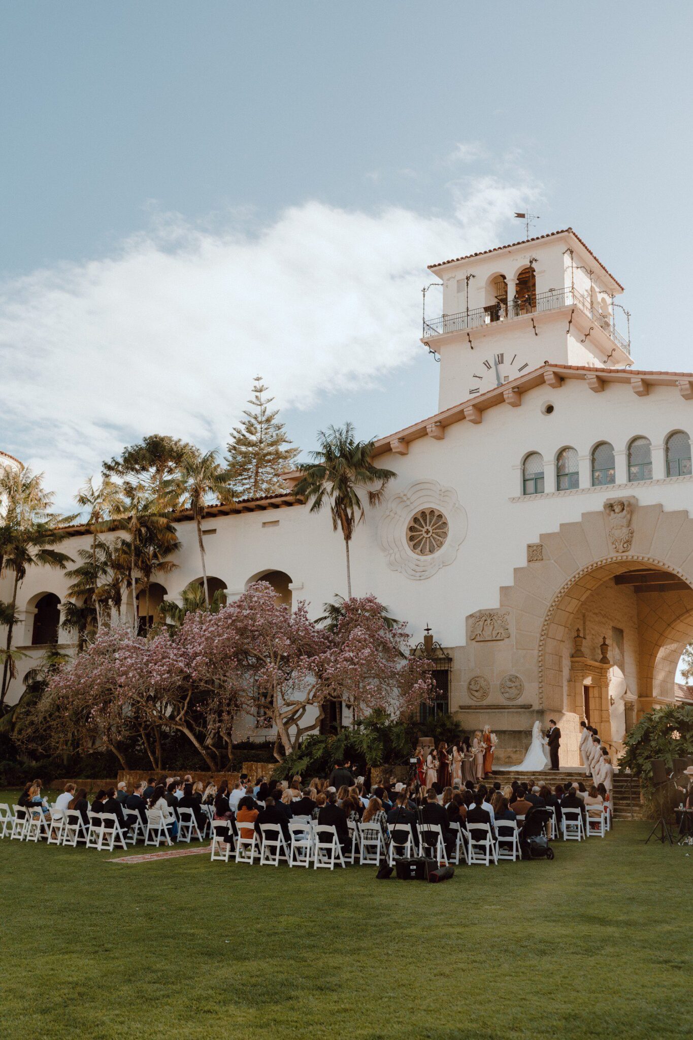
POLYGON ((291 446, 284 423, 277 422, 278 409, 269 410, 273 397, 263 397, 267 387, 262 376, 252 381, 251 410, 243 412, 239 426, 234 426, 226 445, 226 463, 235 498, 260 498, 286 491, 282 473, 300 453, 291 446))

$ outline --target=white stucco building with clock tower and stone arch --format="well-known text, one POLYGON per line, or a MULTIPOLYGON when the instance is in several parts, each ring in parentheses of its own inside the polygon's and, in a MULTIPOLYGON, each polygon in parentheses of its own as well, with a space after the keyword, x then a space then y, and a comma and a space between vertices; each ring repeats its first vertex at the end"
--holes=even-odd
MULTIPOLYGON (((693 373, 634 367, 615 329, 622 287, 570 229, 430 270, 443 315, 422 343, 441 360, 439 411, 377 442, 398 476, 356 529, 354 595, 374 593, 415 643, 430 626, 437 709, 490 723, 501 760, 549 718, 564 764, 584 716, 617 751, 639 712, 673 703, 693 633, 693 373)), ((204 527, 229 597, 266 576, 318 616, 345 593, 341 536, 291 493, 212 510, 204 527)), ((178 534, 168 598, 201 575, 194 525, 181 517, 178 534)), ((76 556, 88 537, 72 538, 76 556)), ((24 581, 20 672, 68 583, 37 569, 24 581)))

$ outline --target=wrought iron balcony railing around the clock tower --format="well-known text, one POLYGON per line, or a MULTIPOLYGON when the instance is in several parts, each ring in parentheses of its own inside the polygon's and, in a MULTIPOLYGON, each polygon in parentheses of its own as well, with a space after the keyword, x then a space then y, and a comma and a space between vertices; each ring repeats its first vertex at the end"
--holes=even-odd
POLYGON ((519 303, 494 304, 490 307, 477 307, 471 311, 460 311, 458 314, 444 314, 439 318, 424 319, 424 339, 429 336, 445 336, 451 332, 465 332, 468 329, 479 329, 481 326, 496 321, 512 321, 526 314, 541 314, 544 311, 557 311, 561 307, 579 307, 590 321, 593 321, 606 332, 607 336, 627 354, 631 353, 630 340, 616 331, 611 315, 603 314, 592 306, 588 296, 578 289, 549 289, 537 292, 535 305, 532 307, 526 301, 519 303))

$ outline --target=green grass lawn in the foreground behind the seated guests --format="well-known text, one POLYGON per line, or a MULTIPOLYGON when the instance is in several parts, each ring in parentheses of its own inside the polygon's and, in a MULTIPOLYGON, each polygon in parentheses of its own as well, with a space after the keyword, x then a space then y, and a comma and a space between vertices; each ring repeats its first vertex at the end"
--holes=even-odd
POLYGON ((0 1035, 690 1037, 693 856, 649 826, 444 885, 5 839, 0 1035))

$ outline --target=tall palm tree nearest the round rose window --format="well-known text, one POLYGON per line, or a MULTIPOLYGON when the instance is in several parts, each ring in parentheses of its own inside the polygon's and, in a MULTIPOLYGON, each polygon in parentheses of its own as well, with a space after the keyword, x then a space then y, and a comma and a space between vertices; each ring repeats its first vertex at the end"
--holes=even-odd
POLYGON ((375 441, 357 441, 354 427, 330 426, 318 434, 320 447, 312 451, 312 463, 301 463, 303 474, 294 494, 312 502, 311 513, 319 513, 329 504, 332 530, 341 529, 347 563, 347 598, 351 599, 351 566, 349 542, 366 513, 359 492, 365 491, 371 509, 382 501, 384 489, 397 476, 392 469, 380 469, 371 462, 375 441), (377 485, 377 487, 376 487, 377 485))

